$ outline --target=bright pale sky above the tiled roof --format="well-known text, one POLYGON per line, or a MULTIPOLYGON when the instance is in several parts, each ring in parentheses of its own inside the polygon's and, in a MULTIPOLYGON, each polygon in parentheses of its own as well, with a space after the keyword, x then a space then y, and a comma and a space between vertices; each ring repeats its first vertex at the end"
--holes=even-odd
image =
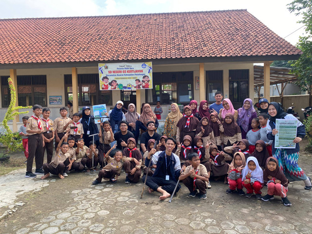
POLYGON ((247 9, 295 45, 299 36, 304 35, 304 27, 297 23, 300 18, 287 9, 290 2, 292 0, 0 0, 0 19, 247 9))

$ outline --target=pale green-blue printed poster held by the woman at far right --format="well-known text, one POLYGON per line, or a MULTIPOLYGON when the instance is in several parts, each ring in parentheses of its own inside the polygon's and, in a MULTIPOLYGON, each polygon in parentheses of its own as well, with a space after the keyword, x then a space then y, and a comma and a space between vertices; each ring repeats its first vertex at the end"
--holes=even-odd
POLYGON ((278 133, 275 135, 275 148, 294 149, 296 143, 293 139, 297 136, 298 120, 276 119, 275 127, 278 133))

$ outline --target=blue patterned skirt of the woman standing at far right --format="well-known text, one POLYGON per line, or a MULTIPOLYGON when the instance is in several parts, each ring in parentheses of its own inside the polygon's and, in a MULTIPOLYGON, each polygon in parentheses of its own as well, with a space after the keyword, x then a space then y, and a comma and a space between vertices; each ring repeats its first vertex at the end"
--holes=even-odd
POLYGON ((298 152, 288 155, 286 149, 276 149, 274 157, 278 160, 278 164, 282 172, 289 181, 305 180, 306 174, 298 166, 298 152))

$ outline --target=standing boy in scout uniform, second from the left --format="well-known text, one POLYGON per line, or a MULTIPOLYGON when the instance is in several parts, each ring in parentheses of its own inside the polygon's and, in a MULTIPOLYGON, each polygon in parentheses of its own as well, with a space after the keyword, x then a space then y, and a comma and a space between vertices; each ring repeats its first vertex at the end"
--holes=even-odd
POLYGON ((54 140, 54 129, 53 121, 50 117, 50 109, 43 108, 42 110, 42 122, 43 122, 43 139, 44 139, 44 151, 47 151, 47 163, 50 163, 53 156, 53 140, 54 140))

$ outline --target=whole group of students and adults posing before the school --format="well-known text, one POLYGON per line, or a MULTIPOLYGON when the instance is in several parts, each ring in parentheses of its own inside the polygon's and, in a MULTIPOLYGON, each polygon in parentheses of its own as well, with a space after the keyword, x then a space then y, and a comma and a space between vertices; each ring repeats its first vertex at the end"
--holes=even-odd
MULTIPOLYGON (((162 137, 155 131, 158 121, 149 104, 144 104, 141 115, 136 112, 135 105, 130 104, 128 113, 124 115, 121 112, 123 103, 118 101, 114 109, 107 113, 109 121, 100 124, 100 131, 97 131, 98 127, 90 116, 89 107, 83 108, 80 120, 78 116, 75 119, 75 115, 78 115, 76 113, 73 120, 67 121, 62 115, 62 111, 65 113, 65 110, 60 110, 60 119, 57 118, 54 124, 50 124, 50 130, 54 127, 58 143, 58 157, 55 156, 53 161, 48 161, 43 166, 41 163, 41 167, 39 164, 43 162, 43 154, 42 160, 40 158, 37 164, 38 154, 37 151, 34 153, 34 149, 38 150, 40 147, 35 145, 40 146, 41 141, 43 147, 46 147, 46 143, 53 142, 54 134, 44 137, 44 134, 49 132, 47 126, 44 126, 44 122, 49 121, 47 108, 42 110, 40 106, 35 105, 34 116, 30 117, 25 125, 29 156, 32 152, 32 158, 27 159, 26 177, 31 177, 28 161, 32 165, 36 155, 36 173, 43 169, 43 172, 40 171, 44 174, 42 178, 48 177, 49 173, 62 178, 70 170, 82 171, 85 167, 87 171, 94 170, 99 163, 101 170, 93 184, 100 183, 103 178, 115 183, 122 168, 126 173, 126 183, 138 182, 143 172, 142 179, 146 179, 149 192, 162 193, 160 199, 165 199, 173 193, 178 179, 189 188, 190 196, 195 196, 198 189, 200 198, 205 199, 206 189, 211 188, 209 179, 214 177, 215 180, 224 178, 224 182, 229 184, 227 194, 237 189, 239 195, 245 195, 242 190, 245 187, 247 197, 255 193, 256 198, 269 200, 273 199, 273 195, 281 195, 284 205, 291 205, 286 197, 288 180, 304 180, 305 189, 312 187, 310 177, 297 165, 299 144, 296 144, 294 149, 274 148, 274 136, 278 132, 275 129, 275 120, 294 117, 287 115, 278 103, 269 103, 265 98, 260 100, 258 110, 262 113, 259 116, 249 98, 244 100, 242 108, 238 110, 234 110, 231 100, 222 98, 222 94, 216 92, 216 102, 210 109, 208 102, 204 100, 200 102, 199 110, 197 102, 192 100, 190 105, 184 106, 183 114, 180 113, 177 104, 173 103, 171 113, 165 120, 162 137), (220 108, 220 103, 223 108, 220 108), (40 110, 42 120, 45 119, 43 121, 40 118, 40 110), (129 122, 125 121, 126 119, 129 119, 129 122), (94 126, 90 126, 92 124, 94 126), (61 132, 58 131, 59 125, 61 132), (83 135, 75 136, 79 125, 82 125, 80 134, 89 137, 96 133, 95 141, 84 145, 85 136, 84 139, 83 135), (87 132, 82 132, 85 129, 88 129, 87 132), (138 150, 140 131, 146 131, 145 135, 148 136, 144 135, 145 137, 141 138, 146 142, 140 142, 141 147, 138 150), (114 140, 117 140, 117 144, 111 147, 110 144, 114 140), (76 149, 73 148, 75 144, 76 149), (264 184, 268 184, 268 195, 262 197, 260 194, 264 184)), ((304 125, 298 121, 297 137, 293 142, 299 143, 304 136, 304 125)))

